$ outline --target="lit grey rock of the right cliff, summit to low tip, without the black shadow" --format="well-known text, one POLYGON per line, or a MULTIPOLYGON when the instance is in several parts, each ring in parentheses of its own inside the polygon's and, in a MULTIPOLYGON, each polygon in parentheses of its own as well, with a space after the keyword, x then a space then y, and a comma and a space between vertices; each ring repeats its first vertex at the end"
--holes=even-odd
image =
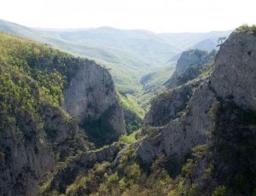
MULTIPOLYGON (((195 89, 182 117, 173 120, 171 115, 173 107, 179 101, 178 96, 177 99, 168 101, 169 106, 173 103, 173 107, 166 107, 169 108, 170 121, 167 124, 164 121, 158 135, 149 135, 137 148, 144 163, 151 163, 160 153, 183 159, 191 151, 191 147, 207 143, 206 133, 214 129, 211 108, 218 99, 232 99, 237 106, 255 110, 255 41, 256 37, 253 35, 240 32, 231 34, 220 47, 212 75, 195 89)), ((153 117, 157 112, 153 106, 149 113, 153 117)), ((150 118, 146 118, 146 123, 150 118)), ((155 122, 154 118, 149 120, 150 124, 161 125, 162 122, 159 121, 159 118, 155 122)))

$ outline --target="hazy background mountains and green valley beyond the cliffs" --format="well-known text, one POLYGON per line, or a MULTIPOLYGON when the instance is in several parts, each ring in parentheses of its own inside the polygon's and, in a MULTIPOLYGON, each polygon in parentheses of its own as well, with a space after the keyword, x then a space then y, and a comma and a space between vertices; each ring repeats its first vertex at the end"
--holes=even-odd
MULTIPOLYGON (((20 26, 6 20, 0 20, 0 30, 99 62, 111 69, 113 81, 119 91, 137 97, 145 94, 144 89, 148 89, 141 84, 145 75, 159 75, 157 72, 162 72, 163 67, 171 69, 181 52, 186 49, 217 49, 218 37, 227 37, 230 34, 230 31, 154 33, 108 26, 44 29, 20 26)), ((160 77, 162 83, 171 75, 172 71, 163 74, 160 77)), ((144 103, 143 100, 140 102, 144 103)))

